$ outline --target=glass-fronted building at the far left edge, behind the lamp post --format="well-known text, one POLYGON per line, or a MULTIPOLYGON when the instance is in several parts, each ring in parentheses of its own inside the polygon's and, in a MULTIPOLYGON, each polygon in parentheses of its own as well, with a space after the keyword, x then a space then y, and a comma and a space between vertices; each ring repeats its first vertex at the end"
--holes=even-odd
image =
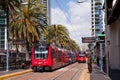
POLYGON ((7 31, 7 15, 3 10, 3 7, 0 6, 0 62, 5 59, 6 54, 6 31, 7 31))

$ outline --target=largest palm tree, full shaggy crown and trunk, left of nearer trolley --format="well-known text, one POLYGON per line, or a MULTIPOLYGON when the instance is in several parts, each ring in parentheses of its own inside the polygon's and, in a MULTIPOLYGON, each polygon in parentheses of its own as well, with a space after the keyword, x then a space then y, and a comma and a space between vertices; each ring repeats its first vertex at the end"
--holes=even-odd
POLYGON ((43 7, 44 5, 40 4, 40 0, 27 0, 26 3, 20 5, 20 8, 16 7, 15 21, 10 21, 12 39, 25 41, 26 60, 30 59, 28 52, 30 47, 34 43, 38 43, 41 38, 41 24, 39 24, 37 17, 44 14, 43 7))

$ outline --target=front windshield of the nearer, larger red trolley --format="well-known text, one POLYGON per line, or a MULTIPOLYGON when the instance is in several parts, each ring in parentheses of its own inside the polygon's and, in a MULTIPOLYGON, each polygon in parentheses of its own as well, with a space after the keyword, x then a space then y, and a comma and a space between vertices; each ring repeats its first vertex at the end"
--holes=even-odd
POLYGON ((35 47, 35 59, 46 59, 48 57, 48 50, 44 46, 37 46, 35 47))

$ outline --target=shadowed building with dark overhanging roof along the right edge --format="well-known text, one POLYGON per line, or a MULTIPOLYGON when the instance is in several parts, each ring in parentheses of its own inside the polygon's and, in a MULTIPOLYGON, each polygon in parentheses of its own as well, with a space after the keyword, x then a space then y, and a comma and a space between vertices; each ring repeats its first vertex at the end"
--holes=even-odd
POLYGON ((107 0, 105 4, 108 67, 120 70, 120 0, 107 0))

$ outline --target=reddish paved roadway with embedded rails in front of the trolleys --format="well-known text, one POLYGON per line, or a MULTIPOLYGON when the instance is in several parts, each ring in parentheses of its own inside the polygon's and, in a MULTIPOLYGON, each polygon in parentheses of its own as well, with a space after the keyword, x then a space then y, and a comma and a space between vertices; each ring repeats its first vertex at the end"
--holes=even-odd
POLYGON ((5 80, 80 80, 85 63, 74 63, 52 72, 29 72, 5 80))

